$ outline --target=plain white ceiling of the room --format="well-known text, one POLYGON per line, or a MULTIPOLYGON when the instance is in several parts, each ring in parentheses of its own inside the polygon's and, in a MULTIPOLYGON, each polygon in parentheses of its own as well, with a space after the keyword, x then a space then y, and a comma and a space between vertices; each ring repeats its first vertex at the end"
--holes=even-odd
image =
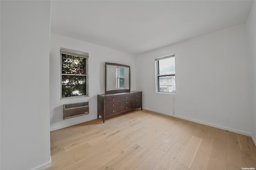
POLYGON ((253 1, 52 1, 51 32, 130 54, 242 24, 253 1))

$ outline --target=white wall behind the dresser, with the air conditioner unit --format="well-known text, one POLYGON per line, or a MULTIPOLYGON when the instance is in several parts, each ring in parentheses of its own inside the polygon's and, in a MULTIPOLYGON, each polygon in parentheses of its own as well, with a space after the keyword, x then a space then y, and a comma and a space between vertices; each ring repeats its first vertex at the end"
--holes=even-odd
POLYGON ((50 130, 97 119, 97 95, 105 93, 105 62, 130 65, 131 90, 136 90, 134 55, 80 40, 51 34, 50 40, 50 130), (60 99, 60 47, 89 53, 90 97, 60 99), (63 104, 89 101, 89 115, 63 120, 63 104))

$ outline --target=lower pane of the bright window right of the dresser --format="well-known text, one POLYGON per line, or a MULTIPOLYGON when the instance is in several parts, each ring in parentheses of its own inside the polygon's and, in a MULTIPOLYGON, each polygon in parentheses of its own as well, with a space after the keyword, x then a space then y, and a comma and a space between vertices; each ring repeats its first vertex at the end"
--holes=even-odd
POLYGON ((175 75, 171 76, 159 76, 158 77, 159 92, 167 92, 167 93, 176 93, 176 87, 175 87, 175 75))

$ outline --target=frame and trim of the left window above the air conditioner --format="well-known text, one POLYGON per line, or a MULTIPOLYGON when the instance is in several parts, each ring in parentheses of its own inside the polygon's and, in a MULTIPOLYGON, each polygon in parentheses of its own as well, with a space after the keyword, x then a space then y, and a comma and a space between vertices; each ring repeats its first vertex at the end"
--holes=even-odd
POLYGON ((78 97, 89 97, 89 69, 88 64, 89 63, 89 53, 82 52, 82 51, 76 51, 72 49, 66 49, 66 48, 60 48, 60 99, 70 99, 70 98, 78 98, 78 97), (85 61, 85 74, 63 74, 62 73, 62 54, 66 55, 73 55, 77 57, 84 57, 86 58, 85 61), (80 95, 80 96, 69 96, 69 97, 62 97, 62 75, 74 75, 74 76, 85 76, 86 81, 86 95, 80 95))

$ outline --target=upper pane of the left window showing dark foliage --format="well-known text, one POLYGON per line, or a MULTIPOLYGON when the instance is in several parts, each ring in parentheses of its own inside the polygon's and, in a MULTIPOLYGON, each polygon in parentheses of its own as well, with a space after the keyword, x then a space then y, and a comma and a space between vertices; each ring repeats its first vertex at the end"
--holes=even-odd
POLYGON ((62 74, 86 74, 84 57, 62 54, 62 74))

